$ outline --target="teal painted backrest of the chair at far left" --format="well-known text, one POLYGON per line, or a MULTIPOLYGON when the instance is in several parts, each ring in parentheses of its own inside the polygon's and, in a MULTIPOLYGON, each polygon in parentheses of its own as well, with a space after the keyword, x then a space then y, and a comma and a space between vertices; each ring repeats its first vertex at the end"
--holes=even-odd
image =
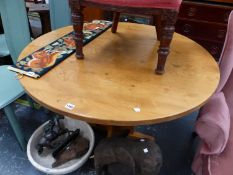
POLYGON ((24 0, 0 0, 0 13, 10 55, 15 63, 31 42, 24 0))

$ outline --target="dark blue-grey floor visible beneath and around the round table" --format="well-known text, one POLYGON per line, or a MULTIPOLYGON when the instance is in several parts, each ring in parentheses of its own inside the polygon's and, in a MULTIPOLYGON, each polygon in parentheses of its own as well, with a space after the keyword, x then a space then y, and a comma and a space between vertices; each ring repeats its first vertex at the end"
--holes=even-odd
MULTIPOLYGON (((15 112, 27 138, 42 123, 49 120, 44 110, 15 105, 15 112)), ((163 153, 163 167, 160 175, 191 175, 191 162, 194 154, 192 140, 196 113, 167 123, 139 126, 137 130, 155 136, 163 153)), ((20 150, 8 120, 0 111, 0 175, 42 175, 27 160, 26 153, 20 150)), ((70 175, 95 175, 93 160, 70 175)))

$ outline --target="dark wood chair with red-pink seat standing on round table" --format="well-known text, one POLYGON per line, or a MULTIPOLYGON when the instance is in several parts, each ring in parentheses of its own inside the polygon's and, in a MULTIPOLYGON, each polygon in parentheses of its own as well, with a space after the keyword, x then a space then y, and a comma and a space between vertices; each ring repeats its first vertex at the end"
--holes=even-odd
POLYGON ((76 33, 76 57, 84 58, 82 42, 84 7, 114 11, 113 33, 117 31, 120 12, 152 15, 156 19, 157 38, 160 40, 156 73, 163 74, 181 2, 182 0, 69 0, 76 33))

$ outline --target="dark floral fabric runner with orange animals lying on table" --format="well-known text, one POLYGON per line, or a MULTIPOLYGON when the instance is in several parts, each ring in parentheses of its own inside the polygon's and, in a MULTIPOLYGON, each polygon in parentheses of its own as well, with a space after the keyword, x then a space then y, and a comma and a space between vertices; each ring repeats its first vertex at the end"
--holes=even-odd
MULTIPOLYGON (((112 26, 112 22, 94 20, 83 27, 84 45, 112 26)), ((8 69, 33 78, 39 78, 75 52, 74 32, 66 34, 47 46, 21 59, 8 69)))

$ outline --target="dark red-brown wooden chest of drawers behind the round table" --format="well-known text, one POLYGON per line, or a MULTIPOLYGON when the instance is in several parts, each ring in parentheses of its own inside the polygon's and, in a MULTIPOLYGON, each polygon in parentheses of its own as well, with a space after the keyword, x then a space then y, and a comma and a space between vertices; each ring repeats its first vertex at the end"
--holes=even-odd
POLYGON ((225 40, 228 17, 233 0, 183 1, 176 24, 176 32, 205 47, 219 59, 225 40), (228 2, 222 3, 222 2, 228 2))

